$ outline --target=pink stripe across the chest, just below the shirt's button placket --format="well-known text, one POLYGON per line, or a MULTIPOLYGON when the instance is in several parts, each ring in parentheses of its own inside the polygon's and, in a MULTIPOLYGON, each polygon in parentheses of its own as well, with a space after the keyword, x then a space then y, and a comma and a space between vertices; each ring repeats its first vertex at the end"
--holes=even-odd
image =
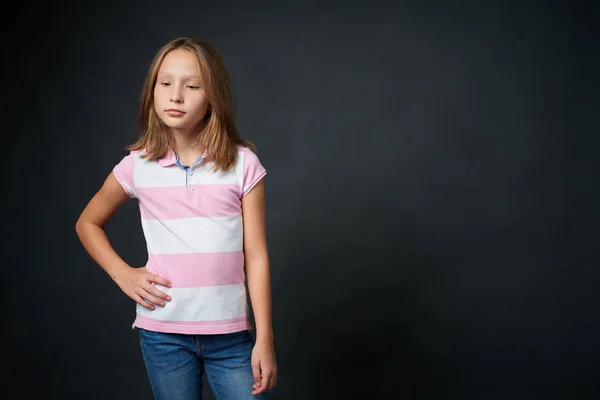
POLYGON ((238 185, 137 188, 142 219, 229 217, 242 213, 238 185))

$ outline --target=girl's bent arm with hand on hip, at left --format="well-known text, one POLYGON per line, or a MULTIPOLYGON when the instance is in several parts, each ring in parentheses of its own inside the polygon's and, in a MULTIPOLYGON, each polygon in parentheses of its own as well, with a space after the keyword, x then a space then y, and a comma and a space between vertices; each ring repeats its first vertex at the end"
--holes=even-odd
POLYGON ((138 304, 153 310, 154 305, 164 306, 163 300, 171 298, 152 283, 171 287, 171 283, 146 267, 130 267, 113 249, 104 226, 129 196, 111 172, 100 190, 87 204, 77 223, 77 236, 88 254, 115 281, 121 290, 138 304))

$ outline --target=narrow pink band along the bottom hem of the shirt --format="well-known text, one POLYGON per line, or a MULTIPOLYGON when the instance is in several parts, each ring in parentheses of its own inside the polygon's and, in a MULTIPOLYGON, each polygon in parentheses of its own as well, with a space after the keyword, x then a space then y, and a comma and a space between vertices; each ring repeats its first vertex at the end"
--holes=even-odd
POLYGON ((136 315, 134 327, 184 334, 216 334, 232 333, 252 329, 248 317, 222 319, 217 321, 160 321, 143 315, 136 315))

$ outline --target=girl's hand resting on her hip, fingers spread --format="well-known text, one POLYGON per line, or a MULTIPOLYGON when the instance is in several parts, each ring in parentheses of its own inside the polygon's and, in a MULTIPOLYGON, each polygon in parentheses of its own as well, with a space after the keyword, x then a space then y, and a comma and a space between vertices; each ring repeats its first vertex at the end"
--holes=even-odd
POLYGON ((131 297, 141 306, 149 310, 154 310, 154 305, 161 307, 165 306, 166 301, 171 301, 171 297, 164 292, 161 292, 152 285, 158 283, 160 285, 171 287, 171 282, 148 272, 148 268, 129 268, 117 276, 115 282, 123 293, 131 297))

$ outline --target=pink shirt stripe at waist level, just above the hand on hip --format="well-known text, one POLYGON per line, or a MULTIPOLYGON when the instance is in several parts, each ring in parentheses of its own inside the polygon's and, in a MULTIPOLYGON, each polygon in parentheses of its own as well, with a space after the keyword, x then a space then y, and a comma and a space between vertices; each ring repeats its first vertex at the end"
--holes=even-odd
POLYGON ((148 271, 174 288, 245 283, 244 253, 148 254, 148 271))

